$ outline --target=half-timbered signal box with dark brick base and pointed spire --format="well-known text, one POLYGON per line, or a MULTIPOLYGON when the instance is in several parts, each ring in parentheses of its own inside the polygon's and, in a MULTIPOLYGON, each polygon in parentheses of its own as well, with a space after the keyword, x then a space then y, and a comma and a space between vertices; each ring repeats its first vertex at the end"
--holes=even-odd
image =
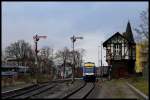
POLYGON ((127 77, 135 72, 136 43, 134 42, 130 23, 126 32, 116 32, 103 43, 106 48, 106 62, 112 66, 112 77, 127 77))

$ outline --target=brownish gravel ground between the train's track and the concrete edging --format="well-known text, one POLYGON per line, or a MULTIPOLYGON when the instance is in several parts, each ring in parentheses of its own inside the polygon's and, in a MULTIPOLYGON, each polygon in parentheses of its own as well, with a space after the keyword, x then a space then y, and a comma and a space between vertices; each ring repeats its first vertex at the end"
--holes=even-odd
POLYGON ((96 83, 94 91, 88 98, 125 98, 139 99, 139 97, 123 81, 111 80, 96 83))

